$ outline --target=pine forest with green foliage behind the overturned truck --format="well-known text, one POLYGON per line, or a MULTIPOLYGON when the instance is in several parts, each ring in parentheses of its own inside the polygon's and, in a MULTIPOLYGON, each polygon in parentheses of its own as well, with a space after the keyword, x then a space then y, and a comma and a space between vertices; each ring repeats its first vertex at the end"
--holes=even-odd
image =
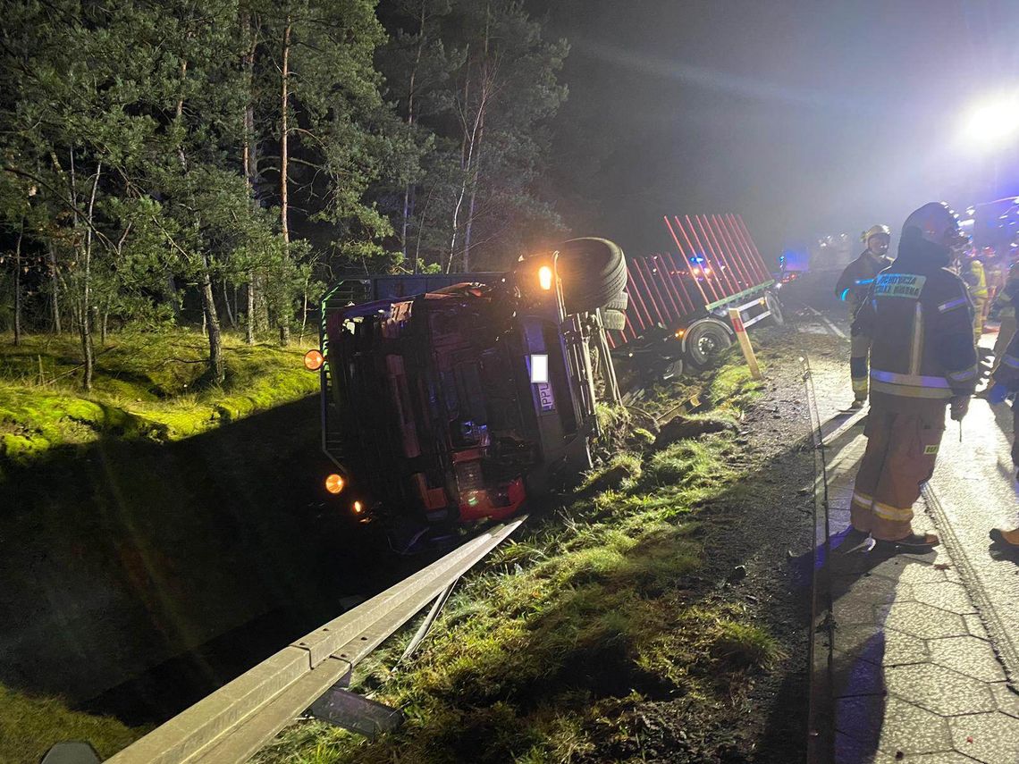
MULTIPOLYGON (((289 341, 343 274, 500 269, 569 47, 516 0, 17 0, 0 30, 0 331, 289 341)), ((97 336, 98 335, 98 336, 97 336)))

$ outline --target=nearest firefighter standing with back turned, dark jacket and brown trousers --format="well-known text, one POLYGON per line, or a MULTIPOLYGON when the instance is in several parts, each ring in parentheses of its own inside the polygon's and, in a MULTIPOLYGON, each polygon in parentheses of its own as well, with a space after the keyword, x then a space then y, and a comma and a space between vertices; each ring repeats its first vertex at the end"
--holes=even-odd
POLYGON ((852 532, 862 540, 929 549, 934 534, 912 529, 913 503, 933 474, 945 408, 962 421, 977 379, 973 307, 948 270, 965 242, 944 203, 931 202, 903 224, 899 257, 875 278, 853 322, 870 345, 867 448, 853 487, 852 532))

